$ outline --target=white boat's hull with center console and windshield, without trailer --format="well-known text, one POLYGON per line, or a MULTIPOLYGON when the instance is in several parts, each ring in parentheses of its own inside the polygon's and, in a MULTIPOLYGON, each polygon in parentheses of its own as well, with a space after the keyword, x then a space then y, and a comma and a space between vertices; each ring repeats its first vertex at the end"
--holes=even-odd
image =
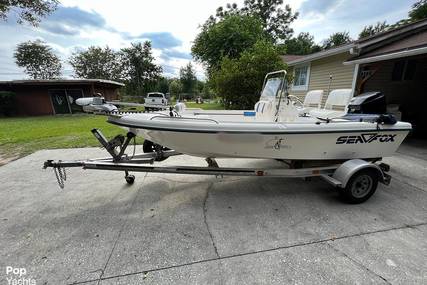
POLYGON ((108 122, 177 152, 210 158, 377 159, 392 156, 411 124, 384 115, 299 116, 284 71, 268 74, 254 110, 113 113, 108 122))

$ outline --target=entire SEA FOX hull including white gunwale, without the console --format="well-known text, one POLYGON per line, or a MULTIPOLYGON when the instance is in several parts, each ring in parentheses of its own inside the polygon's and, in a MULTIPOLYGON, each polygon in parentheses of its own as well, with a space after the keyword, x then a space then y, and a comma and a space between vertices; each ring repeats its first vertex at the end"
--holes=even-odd
POLYGON ((392 156, 411 125, 398 122, 218 122, 149 114, 108 122, 180 153, 215 158, 341 160, 392 156))

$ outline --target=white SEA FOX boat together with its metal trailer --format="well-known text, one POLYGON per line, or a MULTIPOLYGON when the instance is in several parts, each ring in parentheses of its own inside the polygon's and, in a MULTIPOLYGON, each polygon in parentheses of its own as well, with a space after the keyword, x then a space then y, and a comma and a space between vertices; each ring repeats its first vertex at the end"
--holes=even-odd
MULTIPOLYGON (((68 167, 124 171, 128 184, 135 181, 130 172, 321 177, 340 188, 340 193, 350 203, 369 199, 378 182, 388 185, 390 166, 379 161, 393 155, 411 130, 411 124, 396 122, 388 115, 356 114, 375 109, 373 107, 381 99, 376 94, 352 99, 351 108, 348 108, 350 114, 346 114, 347 108, 339 112, 329 107, 308 110, 307 104, 302 104, 304 109, 298 109, 286 92, 285 74, 281 71, 266 76, 260 101, 249 111, 185 110, 184 105, 178 104, 170 112, 121 113, 114 111, 114 104, 110 106, 102 98, 93 101, 83 98, 78 103, 86 106, 85 110, 95 113, 106 110, 109 123, 128 130, 126 137, 117 135, 107 140, 100 130, 93 129, 92 133, 110 157, 47 160, 43 167, 53 168, 61 188, 68 167), (274 77, 269 78, 271 76, 274 77), (99 106, 103 104, 105 108, 99 106), (309 116, 307 112, 323 117, 309 116), (332 117, 337 115, 340 117, 332 117), (128 155, 126 148, 132 140, 135 147, 136 135, 145 139, 144 153, 137 154, 134 148, 133 154, 128 155), (154 161, 180 154, 205 157, 208 166, 152 165, 154 161), (286 163, 273 168, 235 168, 221 167, 215 158, 269 158, 286 163)), ((348 95, 341 90, 334 92, 334 97, 339 93, 348 95)), ((332 99, 329 102, 345 101, 332 99)), ((311 108, 310 104, 308 107, 311 108)))

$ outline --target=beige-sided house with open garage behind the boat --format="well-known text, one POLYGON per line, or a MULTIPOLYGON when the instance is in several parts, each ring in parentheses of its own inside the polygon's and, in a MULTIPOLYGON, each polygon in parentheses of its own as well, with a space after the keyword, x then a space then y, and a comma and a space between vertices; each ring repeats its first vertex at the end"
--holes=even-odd
POLYGON ((306 56, 283 56, 293 75, 290 94, 351 88, 354 96, 381 91, 388 111, 426 136, 427 20, 306 56))

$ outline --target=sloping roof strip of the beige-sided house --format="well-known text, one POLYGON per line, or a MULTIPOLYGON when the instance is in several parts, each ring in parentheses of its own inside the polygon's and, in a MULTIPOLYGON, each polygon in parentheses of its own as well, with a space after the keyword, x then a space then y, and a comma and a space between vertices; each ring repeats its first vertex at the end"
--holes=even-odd
MULTIPOLYGON (((345 52, 349 52, 350 54, 356 56, 361 56, 373 50, 379 50, 385 46, 388 46, 388 48, 392 50, 399 50, 399 48, 409 49, 420 46, 423 42, 426 42, 424 35, 417 36, 417 34, 423 30, 427 30, 427 19, 402 25, 398 28, 384 31, 370 37, 362 38, 349 44, 309 54, 307 56, 288 61, 287 64, 289 66, 294 66, 345 52), (404 39, 404 41, 402 41, 402 39, 404 39)), ((387 48, 384 50, 379 50, 378 52, 386 52, 386 49, 387 48)), ((353 63, 353 61, 347 62, 353 63)))

